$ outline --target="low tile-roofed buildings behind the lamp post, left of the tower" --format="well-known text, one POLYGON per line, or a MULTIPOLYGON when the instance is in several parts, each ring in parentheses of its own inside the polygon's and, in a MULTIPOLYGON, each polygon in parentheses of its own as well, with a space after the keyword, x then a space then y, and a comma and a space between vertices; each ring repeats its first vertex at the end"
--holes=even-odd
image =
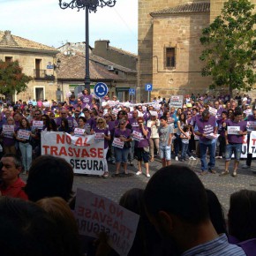
MULTIPOLYGON (((95 47, 89 48, 91 93, 97 82, 109 87, 109 96, 117 94, 120 101, 129 100, 129 89, 137 86, 137 56, 122 49, 109 46, 109 41, 95 41, 95 47)), ((85 78, 85 43, 67 42, 60 48, 57 57, 60 67, 57 69, 57 85, 62 99, 69 91, 78 94, 85 78)))

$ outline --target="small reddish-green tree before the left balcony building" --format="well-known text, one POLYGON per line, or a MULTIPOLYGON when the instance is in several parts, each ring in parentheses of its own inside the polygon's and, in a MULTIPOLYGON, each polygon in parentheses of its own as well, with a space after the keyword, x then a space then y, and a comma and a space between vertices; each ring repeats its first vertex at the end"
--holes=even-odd
POLYGON ((26 76, 19 66, 19 61, 4 62, 0 60, 0 94, 9 96, 26 91, 27 83, 32 77, 26 76))

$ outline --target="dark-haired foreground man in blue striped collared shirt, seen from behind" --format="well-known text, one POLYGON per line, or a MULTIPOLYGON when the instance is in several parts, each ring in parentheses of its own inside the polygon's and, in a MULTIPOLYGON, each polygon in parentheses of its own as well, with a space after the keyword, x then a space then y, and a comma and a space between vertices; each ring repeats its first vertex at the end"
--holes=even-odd
POLYGON ((144 202, 150 222, 177 246, 177 255, 246 255, 215 231, 206 190, 192 169, 180 165, 159 169, 147 183, 144 202))

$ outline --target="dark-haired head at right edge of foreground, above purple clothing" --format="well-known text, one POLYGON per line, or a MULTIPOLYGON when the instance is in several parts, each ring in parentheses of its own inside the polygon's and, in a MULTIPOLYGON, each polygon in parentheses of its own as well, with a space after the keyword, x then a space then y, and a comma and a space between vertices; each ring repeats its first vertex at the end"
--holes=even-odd
POLYGON ((241 190, 230 196, 229 232, 240 241, 256 237, 256 192, 241 190))

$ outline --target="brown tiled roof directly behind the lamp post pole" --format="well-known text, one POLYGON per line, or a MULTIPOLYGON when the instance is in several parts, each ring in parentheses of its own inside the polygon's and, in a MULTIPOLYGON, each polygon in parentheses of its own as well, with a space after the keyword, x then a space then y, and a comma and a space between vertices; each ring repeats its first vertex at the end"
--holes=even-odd
MULTIPOLYGON (((63 53, 59 53, 56 57, 61 61, 59 69, 56 70, 57 79, 85 79, 85 56, 81 56, 79 54, 74 56, 65 56, 63 53)), ((120 77, 115 72, 109 72, 108 69, 104 68, 101 64, 97 64, 91 59, 89 64, 91 79, 120 80, 120 77)))

